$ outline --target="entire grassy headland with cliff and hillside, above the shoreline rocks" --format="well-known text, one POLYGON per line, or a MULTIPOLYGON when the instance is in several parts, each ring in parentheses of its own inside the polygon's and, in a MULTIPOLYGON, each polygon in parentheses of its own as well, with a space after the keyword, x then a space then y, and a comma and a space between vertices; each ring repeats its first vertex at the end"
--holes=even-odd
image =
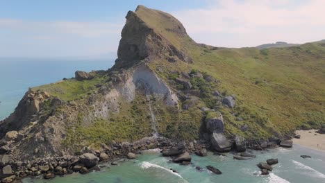
POLYGON ((29 89, 0 122, 1 156, 91 149, 119 157, 110 146, 145 137, 195 142, 193 151, 244 151, 324 123, 322 42, 263 50, 197 44, 172 15, 138 6, 126 15, 117 55, 107 71, 29 89))

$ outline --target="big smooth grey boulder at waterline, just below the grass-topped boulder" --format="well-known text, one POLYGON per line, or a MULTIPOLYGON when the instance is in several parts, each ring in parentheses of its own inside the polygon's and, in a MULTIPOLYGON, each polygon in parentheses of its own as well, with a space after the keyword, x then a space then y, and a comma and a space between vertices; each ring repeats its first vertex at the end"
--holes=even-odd
POLYGON ((223 133, 213 133, 211 135, 211 145, 217 152, 224 153, 231 150, 232 144, 224 137, 223 133))

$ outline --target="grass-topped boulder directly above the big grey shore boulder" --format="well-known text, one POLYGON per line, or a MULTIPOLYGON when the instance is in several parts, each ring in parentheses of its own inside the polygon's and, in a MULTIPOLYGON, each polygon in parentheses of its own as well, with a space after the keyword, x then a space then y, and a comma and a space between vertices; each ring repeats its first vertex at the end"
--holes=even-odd
POLYGON ((206 115, 206 129, 209 132, 224 132, 224 118, 219 112, 209 112, 206 115))

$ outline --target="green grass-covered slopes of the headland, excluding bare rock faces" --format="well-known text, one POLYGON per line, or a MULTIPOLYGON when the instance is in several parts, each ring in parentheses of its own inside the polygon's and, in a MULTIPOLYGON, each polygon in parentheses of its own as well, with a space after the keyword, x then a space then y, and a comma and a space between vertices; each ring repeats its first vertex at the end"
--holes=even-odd
MULTIPOLYGON (((209 115, 208 111, 201 110, 202 107, 222 113, 228 136, 241 134, 249 139, 290 134, 301 127, 319 128, 325 123, 324 42, 285 48, 219 49, 196 44, 181 23, 165 12, 140 7, 136 14, 163 37, 160 41, 172 44, 193 60, 192 63, 169 62, 168 53, 157 52, 161 55, 146 63, 178 94, 181 108, 167 107, 155 98, 149 100, 138 94, 132 103, 119 101, 120 112, 112 114, 110 119, 94 119, 90 125, 82 121, 73 124, 75 130, 68 131, 64 141, 68 146, 81 142, 132 141, 152 135, 149 105, 153 105, 158 132, 176 139, 199 138, 204 118, 209 115), (192 84, 189 92, 176 80, 185 79, 181 72, 200 73, 203 77, 186 79, 192 84), (208 81, 210 76, 213 82, 208 81), (215 91, 222 96, 214 96, 215 91), (187 99, 185 94, 189 93, 199 100, 187 99), (221 103, 222 98, 229 95, 236 97, 234 108, 221 103), (194 107, 184 110, 185 105, 194 107), (243 125, 248 126, 245 132, 240 130, 243 125)), ((103 74, 92 80, 65 80, 35 89, 73 101, 97 94, 97 86, 111 84, 110 79, 103 74)))

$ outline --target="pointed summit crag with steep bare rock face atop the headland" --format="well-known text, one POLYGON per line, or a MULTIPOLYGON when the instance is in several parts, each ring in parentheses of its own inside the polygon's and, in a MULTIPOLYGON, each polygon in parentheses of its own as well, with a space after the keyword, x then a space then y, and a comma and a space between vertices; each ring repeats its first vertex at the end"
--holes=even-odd
MULTIPOLYGON (((173 22, 173 26, 165 28, 165 30, 179 36, 188 36, 181 22, 172 15, 138 6, 135 12, 129 11, 126 15, 126 24, 122 30, 122 39, 119 42, 115 68, 130 67, 140 60, 146 58, 152 60, 152 58, 165 53, 167 53, 166 55, 174 55, 184 62, 192 62, 192 59, 170 43, 167 37, 161 35, 156 28, 151 27, 151 22, 147 21, 146 18, 150 12, 157 16, 156 21, 159 21, 160 17, 163 17, 163 20, 168 17, 168 20, 173 22)), ((166 59, 170 60, 170 57, 166 59)), ((175 62, 175 58, 173 58, 173 62, 175 62)))

